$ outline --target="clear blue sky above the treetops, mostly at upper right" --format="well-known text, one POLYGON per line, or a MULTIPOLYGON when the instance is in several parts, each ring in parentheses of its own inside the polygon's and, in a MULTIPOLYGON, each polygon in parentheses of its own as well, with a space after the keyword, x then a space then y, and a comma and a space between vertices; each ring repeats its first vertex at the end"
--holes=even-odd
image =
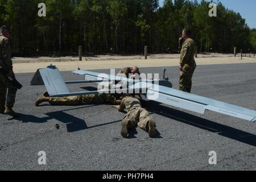
MULTIPOLYGON (((163 2, 164 0, 159 0, 160 6, 163 6, 163 2)), ((240 13, 250 28, 256 28, 256 0, 220 0, 220 2, 226 8, 240 13)))

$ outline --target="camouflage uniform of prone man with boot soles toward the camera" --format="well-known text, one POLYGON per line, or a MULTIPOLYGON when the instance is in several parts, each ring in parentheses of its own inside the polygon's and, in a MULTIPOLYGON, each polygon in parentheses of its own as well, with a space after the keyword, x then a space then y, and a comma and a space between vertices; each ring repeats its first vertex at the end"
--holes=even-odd
POLYGON ((155 122, 153 121, 148 111, 142 108, 141 102, 138 100, 138 98, 123 98, 118 110, 124 111, 125 109, 127 114, 122 119, 122 123, 127 123, 128 130, 138 125, 141 129, 148 131, 150 127, 149 122, 154 123, 155 127, 155 122))

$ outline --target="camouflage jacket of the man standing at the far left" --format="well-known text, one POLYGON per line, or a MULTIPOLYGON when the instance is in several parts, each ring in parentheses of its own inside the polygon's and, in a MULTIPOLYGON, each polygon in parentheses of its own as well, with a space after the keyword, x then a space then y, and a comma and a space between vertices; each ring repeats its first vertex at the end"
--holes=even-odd
POLYGON ((13 61, 11 61, 11 48, 9 39, 0 35, 0 67, 7 70, 13 68, 13 61))

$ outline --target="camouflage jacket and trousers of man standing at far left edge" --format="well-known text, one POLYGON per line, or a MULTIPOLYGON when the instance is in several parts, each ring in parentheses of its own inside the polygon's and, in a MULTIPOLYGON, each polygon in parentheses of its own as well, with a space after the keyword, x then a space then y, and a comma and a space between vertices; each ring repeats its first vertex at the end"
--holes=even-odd
MULTIPOLYGON (((3 67, 8 71, 13 69, 9 39, 2 35, 0 35, 0 67, 3 67)), ((11 85, 7 81, 7 78, 0 73, 0 106, 2 107, 6 104, 7 107, 12 108, 15 103, 16 92, 17 88, 11 85)))

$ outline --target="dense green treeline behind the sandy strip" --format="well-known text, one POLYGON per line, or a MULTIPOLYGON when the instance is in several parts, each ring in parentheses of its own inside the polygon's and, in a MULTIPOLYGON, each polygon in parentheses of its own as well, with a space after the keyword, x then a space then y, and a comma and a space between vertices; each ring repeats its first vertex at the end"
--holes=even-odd
POLYGON ((165 0, 0 0, 0 24, 12 29, 15 55, 175 52, 183 28, 191 28, 199 51, 256 50, 255 30, 239 13, 217 3, 165 0), (46 17, 38 16, 44 2, 46 17))

